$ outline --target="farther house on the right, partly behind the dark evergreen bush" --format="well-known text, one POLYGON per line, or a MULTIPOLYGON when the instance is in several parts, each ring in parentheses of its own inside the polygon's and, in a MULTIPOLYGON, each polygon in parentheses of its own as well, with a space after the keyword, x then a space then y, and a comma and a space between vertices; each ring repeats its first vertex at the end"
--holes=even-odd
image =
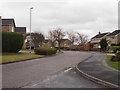
POLYGON ((106 38, 107 35, 109 35, 110 33, 98 33, 96 36, 94 36, 93 38, 91 38, 90 43, 93 44, 93 48, 100 48, 100 41, 103 38, 106 38))

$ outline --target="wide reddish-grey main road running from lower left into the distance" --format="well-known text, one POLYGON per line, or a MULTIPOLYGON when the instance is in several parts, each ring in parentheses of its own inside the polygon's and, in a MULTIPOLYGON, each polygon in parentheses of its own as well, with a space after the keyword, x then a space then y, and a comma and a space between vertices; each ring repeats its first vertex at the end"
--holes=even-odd
POLYGON ((66 67, 73 67, 92 52, 65 51, 55 56, 2 65, 3 88, 24 87, 66 67))

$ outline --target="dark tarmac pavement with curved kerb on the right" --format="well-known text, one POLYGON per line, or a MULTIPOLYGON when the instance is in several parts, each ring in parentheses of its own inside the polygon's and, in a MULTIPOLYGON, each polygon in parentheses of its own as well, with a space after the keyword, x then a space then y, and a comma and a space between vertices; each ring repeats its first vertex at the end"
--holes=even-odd
POLYGON ((106 54, 94 53, 93 57, 79 63, 77 67, 90 76, 120 86, 120 71, 106 64, 106 54))

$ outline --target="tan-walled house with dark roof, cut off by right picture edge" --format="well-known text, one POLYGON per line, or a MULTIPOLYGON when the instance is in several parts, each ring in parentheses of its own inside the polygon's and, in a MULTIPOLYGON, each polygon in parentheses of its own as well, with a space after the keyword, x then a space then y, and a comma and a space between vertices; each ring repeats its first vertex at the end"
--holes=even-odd
POLYGON ((111 44, 120 44, 120 30, 115 30, 108 34, 106 40, 108 41, 109 46, 111 46, 111 44))

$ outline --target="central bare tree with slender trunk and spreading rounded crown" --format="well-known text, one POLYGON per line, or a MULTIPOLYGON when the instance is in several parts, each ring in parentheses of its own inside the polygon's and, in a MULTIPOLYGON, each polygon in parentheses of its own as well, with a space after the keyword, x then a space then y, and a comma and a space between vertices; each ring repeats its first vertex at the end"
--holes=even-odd
POLYGON ((60 44, 62 39, 65 37, 65 32, 63 32, 61 28, 57 28, 53 30, 53 37, 58 42, 58 47, 60 51, 60 44))

